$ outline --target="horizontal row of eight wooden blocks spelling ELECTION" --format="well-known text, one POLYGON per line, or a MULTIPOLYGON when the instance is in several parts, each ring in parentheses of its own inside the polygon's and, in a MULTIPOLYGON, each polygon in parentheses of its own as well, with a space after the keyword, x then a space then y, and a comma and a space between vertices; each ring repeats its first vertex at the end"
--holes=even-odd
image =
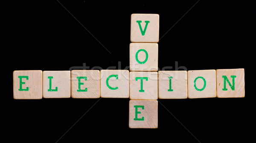
POLYGON ((129 72, 15 70, 15 99, 244 97, 244 69, 129 72))

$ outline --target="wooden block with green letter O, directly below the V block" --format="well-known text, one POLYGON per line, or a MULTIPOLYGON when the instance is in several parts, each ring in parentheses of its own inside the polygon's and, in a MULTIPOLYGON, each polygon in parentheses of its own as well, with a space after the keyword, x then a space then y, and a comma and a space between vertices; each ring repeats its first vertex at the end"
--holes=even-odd
POLYGON ((157 71, 158 44, 130 43, 130 70, 157 71))

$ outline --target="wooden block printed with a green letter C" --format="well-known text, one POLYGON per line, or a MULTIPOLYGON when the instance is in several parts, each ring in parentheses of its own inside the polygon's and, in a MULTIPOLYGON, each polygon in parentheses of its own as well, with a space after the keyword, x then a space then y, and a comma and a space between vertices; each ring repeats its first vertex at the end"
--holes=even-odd
POLYGON ((100 97, 129 98, 129 71, 101 70, 100 97))

